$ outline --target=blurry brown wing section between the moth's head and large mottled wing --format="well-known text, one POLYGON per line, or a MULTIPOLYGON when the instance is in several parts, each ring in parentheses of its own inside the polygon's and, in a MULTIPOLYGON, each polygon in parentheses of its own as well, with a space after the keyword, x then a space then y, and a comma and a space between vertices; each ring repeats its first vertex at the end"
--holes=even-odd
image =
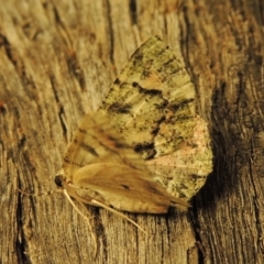
POLYGON ((64 174, 73 180, 77 169, 95 163, 124 164, 146 170, 144 162, 120 136, 102 112, 87 114, 80 122, 64 156, 64 174))

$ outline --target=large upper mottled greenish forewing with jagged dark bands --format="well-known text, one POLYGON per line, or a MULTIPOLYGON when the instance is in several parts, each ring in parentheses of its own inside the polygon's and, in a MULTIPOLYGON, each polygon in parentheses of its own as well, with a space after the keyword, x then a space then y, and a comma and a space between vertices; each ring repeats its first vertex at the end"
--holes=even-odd
POLYGON ((191 123, 186 120, 195 116, 194 100, 195 88, 187 70, 167 44, 154 36, 131 56, 101 109, 108 111, 125 141, 143 158, 150 158, 156 152, 172 152, 188 131, 191 134, 191 123))

